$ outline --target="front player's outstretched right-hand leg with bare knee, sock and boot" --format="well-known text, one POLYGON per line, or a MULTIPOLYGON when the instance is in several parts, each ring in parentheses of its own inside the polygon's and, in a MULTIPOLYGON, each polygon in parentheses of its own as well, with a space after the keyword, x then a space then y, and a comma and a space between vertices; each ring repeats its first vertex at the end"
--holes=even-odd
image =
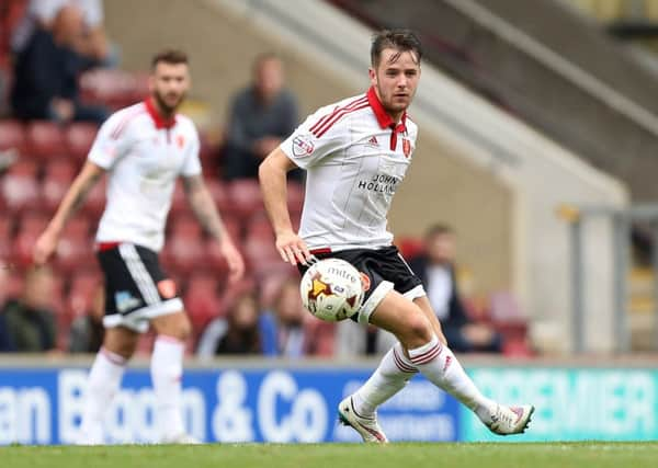
POLYGON ((525 430, 534 408, 508 408, 486 398, 450 347, 440 342, 431 319, 416 303, 392 290, 379 303, 370 321, 394 333, 407 350, 413 366, 428 380, 473 410, 491 431, 506 435, 525 430))

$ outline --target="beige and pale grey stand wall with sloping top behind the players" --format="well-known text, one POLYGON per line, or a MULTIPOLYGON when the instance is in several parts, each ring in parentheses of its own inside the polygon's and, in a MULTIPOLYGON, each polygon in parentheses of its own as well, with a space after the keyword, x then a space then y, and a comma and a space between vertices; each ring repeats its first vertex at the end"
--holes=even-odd
MULTIPOLYGON (((226 109, 231 92, 248 80, 251 59, 269 49, 286 59, 303 112, 367 87, 371 31, 325 2, 170 0, 156 21, 159 5, 106 5, 125 64, 144 68, 166 44, 191 50, 196 92, 216 110, 226 109)), ((477 279, 474 293, 513 290, 537 347, 568 352, 568 228, 555 210, 560 203, 621 207, 627 204, 625 187, 429 64, 411 114, 421 133, 392 212, 394 232, 419 235, 436 220, 453 224, 460 261, 477 279)), ((588 226, 586 244, 586 327, 595 338, 588 340, 589 350, 612 351, 611 227, 588 226)))

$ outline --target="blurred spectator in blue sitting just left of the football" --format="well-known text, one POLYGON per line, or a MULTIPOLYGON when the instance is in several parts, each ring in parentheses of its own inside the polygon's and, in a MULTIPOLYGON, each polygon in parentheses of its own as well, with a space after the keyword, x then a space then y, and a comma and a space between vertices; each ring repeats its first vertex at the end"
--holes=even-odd
POLYGON ((268 356, 300 358, 333 352, 333 324, 311 319, 302 305, 296 278, 282 284, 273 310, 262 315, 261 324, 268 356))

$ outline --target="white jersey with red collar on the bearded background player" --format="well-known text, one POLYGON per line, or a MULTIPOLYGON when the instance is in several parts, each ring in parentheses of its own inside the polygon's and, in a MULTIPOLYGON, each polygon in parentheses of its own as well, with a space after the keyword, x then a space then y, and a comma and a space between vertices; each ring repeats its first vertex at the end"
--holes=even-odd
POLYGON ((112 114, 89 152, 90 161, 107 170, 97 242, 160 251, 177 178, 201 174, 198 146, 190 118, 163 121, 150 100, 112 114))

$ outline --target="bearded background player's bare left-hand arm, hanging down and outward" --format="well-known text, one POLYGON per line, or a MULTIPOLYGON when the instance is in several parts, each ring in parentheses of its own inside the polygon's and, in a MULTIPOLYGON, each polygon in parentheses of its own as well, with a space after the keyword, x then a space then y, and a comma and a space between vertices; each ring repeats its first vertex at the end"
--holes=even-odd
POLYGON ((82 170, 59 204, 57 213, 55 213, 55 216, 53 216, 53 219, 48 222, 46 230, 39 236, 34 246, 33 258, 37 265, 42 265, 48 261, 48 258, 57 248, 59 236, 61 235, 67 220, 82 205, 89 191, 104 173, 105 170, 100 165, 94 164, 91 161, 84 163, 84 167, 82 167, 82 170))

